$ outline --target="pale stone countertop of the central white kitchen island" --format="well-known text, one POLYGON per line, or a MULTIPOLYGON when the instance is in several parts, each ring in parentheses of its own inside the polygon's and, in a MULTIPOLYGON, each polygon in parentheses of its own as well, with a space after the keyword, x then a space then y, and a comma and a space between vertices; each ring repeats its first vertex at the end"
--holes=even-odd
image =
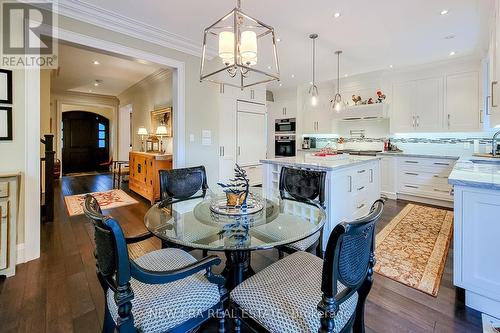
POLYGON ((358 155, 347 155, 346 158, 342 159, 328 159, 325 157, 324 160, 322 158, 316 158, 314 161, 305 161, 305 159, 300 157, 283 157, 283 158, 271 158, 261 160, 261 163, 265 164, 279 164, 285 166, 291 166, 296 168, 309 168, 321 171, 337 171, 341 169, 350 168, 352 166, 361 165, 366 162, 376 161, 380 159, 380 157, 376 156, 358 156, 358 155), (319 161, 318 161, 319 160, 319 161))

